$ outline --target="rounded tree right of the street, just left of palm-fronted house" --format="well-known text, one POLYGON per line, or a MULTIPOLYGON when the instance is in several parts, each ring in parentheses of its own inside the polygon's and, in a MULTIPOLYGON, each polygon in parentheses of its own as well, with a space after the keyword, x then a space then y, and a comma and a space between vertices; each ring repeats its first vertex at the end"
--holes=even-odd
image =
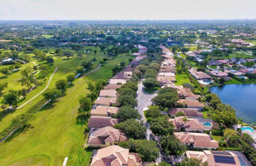
POLYGON ((150 130, 155 135, 171 135, 174 132, 174 126, 167 116, 159 116, 150 122, 150 130))

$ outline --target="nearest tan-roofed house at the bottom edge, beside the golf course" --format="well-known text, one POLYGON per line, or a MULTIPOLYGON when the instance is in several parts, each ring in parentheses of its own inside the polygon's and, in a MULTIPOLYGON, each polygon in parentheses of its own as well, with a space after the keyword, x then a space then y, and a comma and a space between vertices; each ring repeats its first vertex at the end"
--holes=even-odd
POLYGON ((91 166, 140 166, 141 158, 137 153, 129 153, 118 145, 108 146, 92 153, 91 166))

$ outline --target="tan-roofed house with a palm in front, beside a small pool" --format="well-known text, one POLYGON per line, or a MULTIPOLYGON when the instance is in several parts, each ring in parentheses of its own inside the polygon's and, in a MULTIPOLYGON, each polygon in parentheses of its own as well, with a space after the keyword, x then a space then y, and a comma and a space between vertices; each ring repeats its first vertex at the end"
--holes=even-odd
POLYGON ((204 132, 204 124, 200 123, 197 119, 187 118, 187 122, 183 122, 182 116, 169 119, 174 125, 174 130, 180 131, 185 129, 186 132, 204 132))

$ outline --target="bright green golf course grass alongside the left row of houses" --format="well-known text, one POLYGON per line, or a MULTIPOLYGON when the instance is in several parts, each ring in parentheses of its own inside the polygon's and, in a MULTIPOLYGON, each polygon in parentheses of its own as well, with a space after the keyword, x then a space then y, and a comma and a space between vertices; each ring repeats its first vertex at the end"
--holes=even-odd
MULTIPOLYGON (((124 55, 120 54, 114 59, 121 56, 124 55)), ((51 65, 51 68, 58 67, 58 70, 49 87, 54 87, 55 82, 64 79, 66 75, 75 73, 76 66, 79 66, 83 60, 88 61, 93 57, 97 60, 92 69, 88 71, 98 68, 99 61, 106 56, 103 53, 86 54, 81 60, 76 57, 67 59, 54 56, 55 63, 51 65)), ((48 104, 35 114, 35 120, 30 122, 29 129, 20 134, 14 134, 0 143, 0 165, 62 165, 65 157, 69 157, 67 165, 89 165, 92 151, 85 151, 82 147, 85 143, 83 132, 89 115, 78 114, 79 98, 88 93, 86 85, 89 81, 108 79, 112 75, 111 69, 121 61, 128 64, 129 58, 132 56, 108 62, 99 70, 82 79, 76 79, 74 85, 69 87, 66 94, 60 96, 58 101, 48 104)), ((35 58, 32 60, 37 62, 35 58)), ((42 98, 42 95, 39 95, 27 107, 22 107, 6 115, 1 119, 0 126, 7 126, 9 120, 26 112, 42 98)), ((1 129, 3 128, 1 127, 1 129)))

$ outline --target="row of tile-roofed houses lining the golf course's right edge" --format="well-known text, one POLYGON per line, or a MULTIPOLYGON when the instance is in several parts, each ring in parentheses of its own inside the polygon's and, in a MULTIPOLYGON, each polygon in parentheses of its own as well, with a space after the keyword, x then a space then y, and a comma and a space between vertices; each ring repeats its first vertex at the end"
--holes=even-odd
POLYGON ((141 158, 137 153, 130 153, 129 149, 118 146, 119 142, 127 141, 128 137, 113 126, 121 122, 112 118, 119 111, 118 95, 116 89, 132 78, 132 70, 145 55, 138 55, 130 62, 126 69, 117 73, 108 80, 108 85, 99 92, 94 102, 91 117, 88 122, 90 129, 87 144, 89 147, 102 148, 94 150, 91 156, 91 166, 140 166, 141 158))

